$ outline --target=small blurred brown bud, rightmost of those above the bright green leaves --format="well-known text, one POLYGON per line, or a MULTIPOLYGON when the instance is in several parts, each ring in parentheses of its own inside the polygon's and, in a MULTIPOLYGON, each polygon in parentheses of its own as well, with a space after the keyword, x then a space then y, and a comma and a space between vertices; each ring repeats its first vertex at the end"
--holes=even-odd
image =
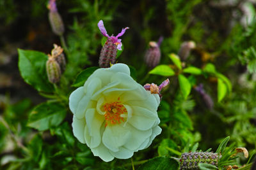
POLYGON ((190 54, 190 51, 195 47, 196 44, 194 41, 185 41, 182 43, 178 52, 180 60, 186 60, 190 54))

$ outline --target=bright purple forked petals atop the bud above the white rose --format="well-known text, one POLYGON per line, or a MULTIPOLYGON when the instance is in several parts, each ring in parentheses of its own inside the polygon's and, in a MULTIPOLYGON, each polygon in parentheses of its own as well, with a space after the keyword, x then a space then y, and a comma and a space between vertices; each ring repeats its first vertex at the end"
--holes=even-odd
POLYGON ((113 36, 113 35, 109 36, 108 35, 102 20, 99 21, 98 27, 99 27, 100 32, 102 33, 103 36, 106 36, 106 38, 108 38, 108 40, 110 40, 113 44, 117 45, 117 49, 118 50, 122 50, 122 48, 121 48, 121 46, 122 46, 122 43, 121 43, 122 39, 118 39, 118 37, 124 35, 124 32, 127 29, 129 29, 129 27, 123 28, 122 31, 119 34, 117 34, 117 36, 113 36))

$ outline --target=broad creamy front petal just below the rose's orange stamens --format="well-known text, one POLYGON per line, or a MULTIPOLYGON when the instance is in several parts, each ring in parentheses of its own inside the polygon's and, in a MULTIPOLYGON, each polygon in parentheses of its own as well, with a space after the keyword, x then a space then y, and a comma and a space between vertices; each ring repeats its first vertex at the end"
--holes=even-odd
POLYGON ((131 138, 131 131, 129 131, 129 129, 119 124, 107 125, 102 136, 102 143, 104 143, 109 150, 117 152, 120 146, 123 146, 129 138, 131 138))

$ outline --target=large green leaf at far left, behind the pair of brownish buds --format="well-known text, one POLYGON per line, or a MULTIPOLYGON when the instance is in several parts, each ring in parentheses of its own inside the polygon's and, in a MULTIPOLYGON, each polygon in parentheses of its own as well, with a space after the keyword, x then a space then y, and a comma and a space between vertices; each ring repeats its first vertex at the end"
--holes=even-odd
POLYGON ((52 92, 53 86, 49 83, 45 64, 47 55, 42 52, 21 50, 19 52, 19 70, 26 83, 42 92, 52 92))

